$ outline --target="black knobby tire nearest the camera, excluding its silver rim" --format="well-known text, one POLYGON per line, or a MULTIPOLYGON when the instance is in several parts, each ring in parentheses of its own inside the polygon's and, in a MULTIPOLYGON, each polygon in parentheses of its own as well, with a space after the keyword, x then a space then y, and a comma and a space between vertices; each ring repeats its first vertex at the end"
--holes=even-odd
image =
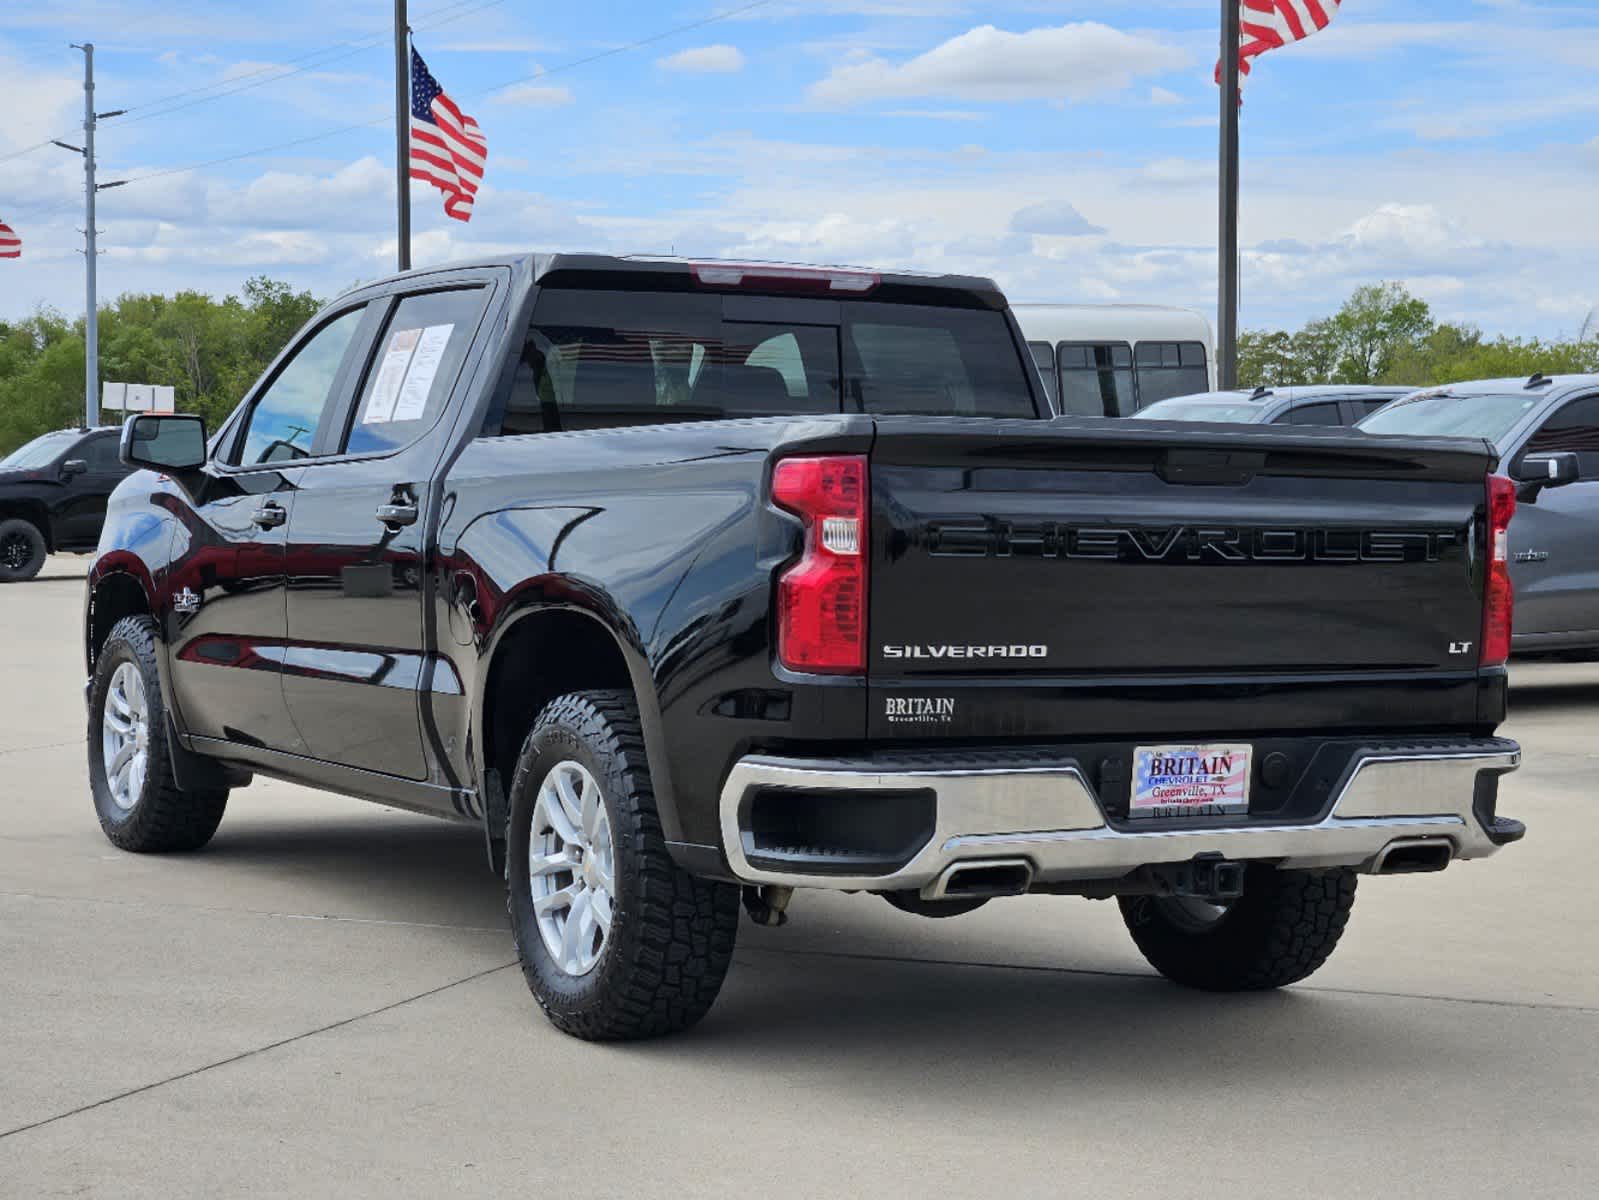
POLYGON ((625 691, 579 691, 545 706, 523 742, 505 826, 505 902, 528 987, 564 1034, 588 1042, 688 1029, 716 1000, 739 930, 739 888, 689 875, 667 853, 638 707, 625 691), (553 960, 532 912, 528 846, 539 786, 572 760, 601 786, 611 821, 611 930, 588 974, 553 960))

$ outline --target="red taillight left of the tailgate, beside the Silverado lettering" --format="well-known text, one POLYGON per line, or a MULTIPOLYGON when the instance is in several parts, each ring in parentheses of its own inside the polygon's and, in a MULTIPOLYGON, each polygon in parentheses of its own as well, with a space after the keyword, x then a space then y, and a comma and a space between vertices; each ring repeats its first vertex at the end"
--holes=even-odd
POLYGON ((777 576, 777 661, 792 670, 867 669, 867 459, 785 458, 772 499, 804 520, 804 554, 777 576))

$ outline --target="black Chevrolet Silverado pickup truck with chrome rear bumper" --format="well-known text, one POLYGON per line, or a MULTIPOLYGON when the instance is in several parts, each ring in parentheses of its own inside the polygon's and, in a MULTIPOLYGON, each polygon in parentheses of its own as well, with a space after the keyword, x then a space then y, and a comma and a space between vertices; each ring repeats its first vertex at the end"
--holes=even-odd
POLYGON ((478 824, 579 1037, 704 1016, 740 893, 1116 898, 1166 976, 1262 989, 1358 874, 1524 832, 1493 451, 1052 418, 987 280, 414 272, 122 453, 106 835, 201 846, 254 773, 478 824))

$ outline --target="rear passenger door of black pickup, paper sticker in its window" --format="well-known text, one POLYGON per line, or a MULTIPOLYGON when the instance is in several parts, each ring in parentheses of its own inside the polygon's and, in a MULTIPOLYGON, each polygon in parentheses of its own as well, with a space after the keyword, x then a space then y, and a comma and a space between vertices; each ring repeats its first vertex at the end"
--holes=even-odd
POLYGON ((315 758, 425 779, 419 693, 454 683, 424 629, 433 478, 492 280, 408 280, 337 421, 305 467, 288 541, 283 694, 315 758), (454 400, 453 400, 454 397, 454 400))

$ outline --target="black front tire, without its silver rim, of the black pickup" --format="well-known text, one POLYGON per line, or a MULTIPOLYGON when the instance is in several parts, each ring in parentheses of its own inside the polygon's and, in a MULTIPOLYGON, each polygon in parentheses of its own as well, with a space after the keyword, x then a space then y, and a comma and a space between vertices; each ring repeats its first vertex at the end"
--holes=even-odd
POLYGON ((136 854, 200 850, 216 834, 227 808, 227 789, 190 792, 179 787, 173 776, 155 653, 155 621, 149 616, 123 618, 101 648, 94 662, 94 686, 90 690, 88 757, 94 813, 110 843, 136 854), (144 787, 130 810, 112 800, 101 754, 106 693, 123 662, 133 662, 139 670, 150 726, 144 787))

